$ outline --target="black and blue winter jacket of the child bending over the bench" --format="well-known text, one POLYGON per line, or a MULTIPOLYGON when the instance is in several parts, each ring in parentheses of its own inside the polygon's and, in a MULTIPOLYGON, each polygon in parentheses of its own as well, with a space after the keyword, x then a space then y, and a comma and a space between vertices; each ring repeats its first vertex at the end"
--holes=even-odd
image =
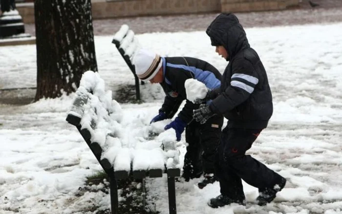
MULTIPOLYGON (((165 57, 163 60, 164 81, 160 84, 166 94, 160 111, 172 118, 183 100, 187 100, 185 81, 193 78, 204 83, 208 88, 220 86, 222 75, 211 64, 191 57, 165 57)), ((192 111, 199 105, 187 100, 178 117, 185 123, 192 121, 192 111)))

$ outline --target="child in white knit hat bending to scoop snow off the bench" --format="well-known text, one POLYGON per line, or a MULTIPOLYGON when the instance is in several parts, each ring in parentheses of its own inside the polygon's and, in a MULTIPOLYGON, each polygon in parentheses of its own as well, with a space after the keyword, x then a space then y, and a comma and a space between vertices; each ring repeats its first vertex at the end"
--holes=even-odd
POLYGON ((199 104, 187 100, 185 81, 196 79, 209 89, 220 86, 221 74, 211 64, 191 57, 161 57, 153 51, 139 49, 133 58, 135 72, 140 80, 159 83, 166 94, 164 103, 150 123, 172 118, 181 103, 186 104, 177 117, 165 127, 173 128, 177 140, 185 131, 185 140, 189 144, 184 158, 182 176, 185 181, 198 178, 204 171, 204 180, 199 188, 214 183, 214 156, 218 146, 223 124, 223 116, 213 116, 206 123, 200 124, 192 118, 193 109, 199 104))

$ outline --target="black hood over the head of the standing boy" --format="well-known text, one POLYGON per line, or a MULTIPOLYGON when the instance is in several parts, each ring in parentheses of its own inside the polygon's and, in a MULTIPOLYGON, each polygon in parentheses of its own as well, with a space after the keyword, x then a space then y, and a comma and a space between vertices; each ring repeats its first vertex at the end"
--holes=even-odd
POLYGON ((222 45, 227 50, 229 55, 227 61, 233 59, 240 50, 250 47, 242 25, 232 13, 218 15, 209 25, 206 33, 213 46, 222 45))

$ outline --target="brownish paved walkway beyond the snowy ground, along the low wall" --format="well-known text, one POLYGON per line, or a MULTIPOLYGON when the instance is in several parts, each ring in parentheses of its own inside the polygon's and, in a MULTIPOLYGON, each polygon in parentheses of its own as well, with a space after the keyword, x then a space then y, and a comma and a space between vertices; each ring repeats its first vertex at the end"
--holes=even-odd
MULTIPOLYGON (((298 7, 283 11, 236 13, 244 27, 278 26, 342 21, 342 0, 312 0, 320 6, 312 8, 308 0, 298 7)), ((217 13, 157 17, 133 17, 93 20, 95 35, 113 35, 122 24, 128 24, 135 33, 177 32, 205 30, 217 13)), ((35 34, 34 24, 26 24, 26 32, 35 34)))

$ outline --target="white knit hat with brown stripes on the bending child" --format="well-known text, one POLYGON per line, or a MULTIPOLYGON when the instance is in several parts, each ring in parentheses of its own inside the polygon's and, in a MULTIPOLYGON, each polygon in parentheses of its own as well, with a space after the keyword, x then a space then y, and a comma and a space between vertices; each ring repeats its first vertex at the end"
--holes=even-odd
POLYGON ((149 81, 162 66, 162 59, 153 51, 141 48, 135 53, 133 64, 135 65, 135 73, 138 78, 143 81, 149 81))

